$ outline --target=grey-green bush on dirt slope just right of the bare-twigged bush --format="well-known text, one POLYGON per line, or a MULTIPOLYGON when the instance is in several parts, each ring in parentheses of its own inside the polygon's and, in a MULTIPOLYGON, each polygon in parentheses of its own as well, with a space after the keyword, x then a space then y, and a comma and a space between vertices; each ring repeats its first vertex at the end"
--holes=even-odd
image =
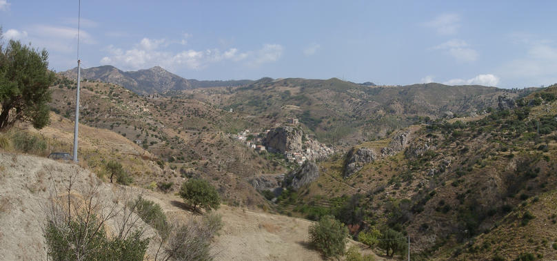
POLYGON ((159 204, 151 200, 145 200, 140 195, 136 200, 128 202, 128 205, 135 209, 135 213, 139 215, 143 222, 149 224, 154 229, 158 231, 165 231, 167 229, 168 222, 166 221, 166 215, 159 204))

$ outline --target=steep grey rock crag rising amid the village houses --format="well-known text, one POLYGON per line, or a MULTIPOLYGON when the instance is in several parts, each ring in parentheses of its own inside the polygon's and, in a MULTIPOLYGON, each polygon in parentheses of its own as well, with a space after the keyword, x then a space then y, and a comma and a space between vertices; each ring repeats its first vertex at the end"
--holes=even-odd
POLYGON ((302 151, 303 132, 291 126, 273 128, 263 141, 268 151, 285 153, 302 151))

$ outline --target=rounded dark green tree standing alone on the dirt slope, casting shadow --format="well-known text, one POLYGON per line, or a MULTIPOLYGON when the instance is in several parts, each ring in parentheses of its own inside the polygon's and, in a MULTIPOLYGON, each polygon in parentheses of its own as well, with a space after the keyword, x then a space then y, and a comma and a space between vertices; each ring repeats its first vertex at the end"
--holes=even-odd
POLYGON ((219 193, 209 182, 201 179, 190 179, 184 182, 180 188, 180 196, 184 202, 197 209, 197 206, 205 210, 218 209, 221 204, 219 193))

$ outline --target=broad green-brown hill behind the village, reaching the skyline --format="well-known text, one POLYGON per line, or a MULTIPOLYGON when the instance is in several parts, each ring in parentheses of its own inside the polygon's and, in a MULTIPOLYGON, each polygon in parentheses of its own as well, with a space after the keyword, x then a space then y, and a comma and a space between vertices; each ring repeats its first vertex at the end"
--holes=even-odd
POLYGON ((245 87, 186 90, 170 95, 256 115, 267 125, 296 117, 321 142, 350 146, 385 137, 416 122, 445 115, 477 115, 496 107, 501 95, 514 98, 527 93, 529 90, 434 83, 364 86, 336 78, 263 78, 245 87))

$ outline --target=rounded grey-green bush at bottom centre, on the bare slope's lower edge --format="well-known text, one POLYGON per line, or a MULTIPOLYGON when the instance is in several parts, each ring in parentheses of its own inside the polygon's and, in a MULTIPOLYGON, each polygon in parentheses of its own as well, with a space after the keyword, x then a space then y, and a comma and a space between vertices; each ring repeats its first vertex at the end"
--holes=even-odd
POLYGON ((326 215, 319 222, 312 224, 309 232, 311 244, 326 257, 344 254, 348 229, 332 216, 326 215))

